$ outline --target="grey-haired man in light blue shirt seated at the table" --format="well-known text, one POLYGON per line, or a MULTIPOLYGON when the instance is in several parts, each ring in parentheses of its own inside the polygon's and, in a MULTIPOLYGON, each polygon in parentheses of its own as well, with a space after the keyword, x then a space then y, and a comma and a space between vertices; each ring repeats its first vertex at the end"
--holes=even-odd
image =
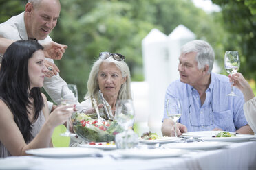
MULTIPOLYGON (((177 134, 203 130, 224 130, 240 134, 253 134, 244 117, 244 98, 237 88, 231 93, 228 77, 211 73, 215 54, 209 43, 193 40, 181 49, 178 71, 180 80, 167 88, 165 106, 170 98, 181 102, 182 115, 178 119, 177 134)), ((162 124, 163 136, 175 136, 173 120, 166 107, 162 124)))

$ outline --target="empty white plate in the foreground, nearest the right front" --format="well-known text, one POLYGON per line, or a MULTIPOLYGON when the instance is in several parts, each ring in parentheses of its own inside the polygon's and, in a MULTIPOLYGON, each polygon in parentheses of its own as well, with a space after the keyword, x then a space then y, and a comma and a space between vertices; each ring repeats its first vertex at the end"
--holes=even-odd
POLYGON ((177 149, 220 149, 228 146, 229 143, 223 142, 194 142, 194 143, 169 143, 164 144, 163 148, 177 148, 177 149))

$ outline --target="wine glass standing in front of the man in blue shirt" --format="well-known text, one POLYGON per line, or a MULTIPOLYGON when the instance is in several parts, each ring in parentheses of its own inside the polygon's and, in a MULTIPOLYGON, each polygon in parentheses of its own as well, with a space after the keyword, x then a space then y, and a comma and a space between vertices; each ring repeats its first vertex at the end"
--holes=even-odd
POLYGON ((180 99, 178 99, 178 98, 167 99, 165 109, 167 112, 167 116, 174 121, 175 137, 177 137, 176 121, 178 121, 178 119, 181 117, 181 113, 182 113, 180 99))

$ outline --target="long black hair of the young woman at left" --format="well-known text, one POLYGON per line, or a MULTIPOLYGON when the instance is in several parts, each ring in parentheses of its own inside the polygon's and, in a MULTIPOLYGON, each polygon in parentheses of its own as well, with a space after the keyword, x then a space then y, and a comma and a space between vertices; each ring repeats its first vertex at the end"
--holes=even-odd
POLYGON ((30 90, 28 76, 28 60, 39 49, 43 50, 43 46, 32 40, 12 43, 3 55, 0 69, 0 97, 12 111, 14 121, 26 142, 32 139, 32 123, 28 119, 28 108, 31 108, 32 103, 29 99, 34 99, 33 121, 38 119, 44 106, 40 88, 30 90))

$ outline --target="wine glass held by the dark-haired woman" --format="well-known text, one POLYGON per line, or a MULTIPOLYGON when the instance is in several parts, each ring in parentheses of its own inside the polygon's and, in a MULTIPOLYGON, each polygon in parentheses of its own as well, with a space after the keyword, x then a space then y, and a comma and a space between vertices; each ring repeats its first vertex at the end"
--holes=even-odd
MULTIPOLYGON (((75 105, 78 101, 78 93, 75 84, 65 84, 61 88, 61 105, 75 105)), ((74 108, 68 108, 74 109, 74 108)), ((75 136, 76 134, 70 133, 70 118, 67 119, 67 130, 61 136, 75 136)))

